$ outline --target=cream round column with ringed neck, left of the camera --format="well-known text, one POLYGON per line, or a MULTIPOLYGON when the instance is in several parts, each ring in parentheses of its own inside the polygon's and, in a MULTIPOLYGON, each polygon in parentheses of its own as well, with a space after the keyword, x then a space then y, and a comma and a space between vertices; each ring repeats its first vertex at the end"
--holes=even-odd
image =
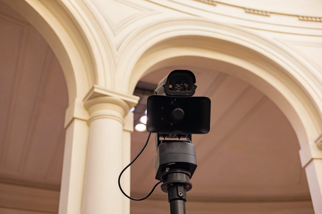
POLYGON ((123 126, 128 104, 116 97, 89 99, 90 113, 82 214, 124 214, 125 200, 118 188, 123 168, 123 126))

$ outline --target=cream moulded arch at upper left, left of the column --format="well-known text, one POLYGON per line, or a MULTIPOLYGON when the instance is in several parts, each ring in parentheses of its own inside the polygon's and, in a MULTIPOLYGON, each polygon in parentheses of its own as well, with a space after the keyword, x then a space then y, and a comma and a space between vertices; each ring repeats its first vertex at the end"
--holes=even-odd
POLYGON ((82 99, 97 82, 97 69, 87 38, 69 10, 59 1, 4 2, 28 20, 52 48, 66 79, 69 104, 82 99))

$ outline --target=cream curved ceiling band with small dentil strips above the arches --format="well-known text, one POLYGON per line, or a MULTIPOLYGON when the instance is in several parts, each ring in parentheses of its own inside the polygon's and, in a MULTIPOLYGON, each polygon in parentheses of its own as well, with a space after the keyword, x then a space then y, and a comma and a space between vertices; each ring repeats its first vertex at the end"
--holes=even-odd
POLYGON ((296 4, 294 4, 292 1, 279 0, 270 2, 264 0, 149 1, 163 5, 164 7, 167 6, 166 2, 173 2, 175 4, 171 4, 171 9, 181 13, 229 22, 252 30, 313 36, 320 35, 316 29, 319 29, 320 27, 318 26, 318 22, 322 21, 321 10, 317 9, 321 7, 321 1, 316 2, 316 6, 310 6, 309 4, 306 4, 305 1, 296 2, 296 4), (253 14, 259 16, 256 16, 257 18, 255 18, 253 14), (310 23, 307 21, 310 21, 310 23), (307 32, 303 33, 304 29, 307 30, 307 32))

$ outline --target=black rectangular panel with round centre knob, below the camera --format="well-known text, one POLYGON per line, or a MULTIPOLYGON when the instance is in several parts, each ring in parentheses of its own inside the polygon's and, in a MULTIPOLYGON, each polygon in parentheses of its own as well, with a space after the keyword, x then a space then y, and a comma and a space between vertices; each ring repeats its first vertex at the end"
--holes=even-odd
POLYGON ((210 106, 207 97, 151 95, 147 98, 147 130, 152 133, 208 133, 210 106))

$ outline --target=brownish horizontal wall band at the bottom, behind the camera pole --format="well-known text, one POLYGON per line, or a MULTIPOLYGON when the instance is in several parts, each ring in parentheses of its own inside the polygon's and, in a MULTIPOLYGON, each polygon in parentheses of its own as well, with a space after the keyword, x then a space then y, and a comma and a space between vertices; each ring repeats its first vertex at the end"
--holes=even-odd
MULTIPOLYGON (((193 191, 193 190, 192 190, 193 191)), ((188 192, 188 197, 189 197, 188 192)), ((136 197, 136 195, 133 195, 136 197)), ((140 203, 131 201, 131 214, 163 214, 168 212, 169 204, 166 201, 166 194, 163 199, 150 198, 140 203)), ((258 213, 279 213, 279 214, 300 214, 314 213, 312 201, 194 201, 190 197, 186 202, 189 213, 235 213, 235 214, 258 214, 258 213), (215 210, 215 211, 214 211, 215 210), (269 211, 268 211, 269 210, 269 211)))

